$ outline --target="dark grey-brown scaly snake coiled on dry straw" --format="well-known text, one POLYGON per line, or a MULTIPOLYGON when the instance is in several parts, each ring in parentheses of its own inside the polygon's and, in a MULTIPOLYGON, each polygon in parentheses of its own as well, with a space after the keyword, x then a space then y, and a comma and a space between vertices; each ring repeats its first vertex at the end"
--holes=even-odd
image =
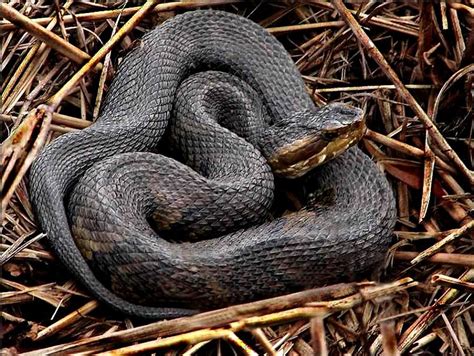
POLYGON ((98 300, 138 318, 192 315, 381 263, 395 199, 356 145, 364 129, 358 108, 316 107, 264 28, 188 11, 127 53, 91 126, 41 151, 30 199, 98 300), (279 180, 304 187, 302 209, 272 216, 279 180))

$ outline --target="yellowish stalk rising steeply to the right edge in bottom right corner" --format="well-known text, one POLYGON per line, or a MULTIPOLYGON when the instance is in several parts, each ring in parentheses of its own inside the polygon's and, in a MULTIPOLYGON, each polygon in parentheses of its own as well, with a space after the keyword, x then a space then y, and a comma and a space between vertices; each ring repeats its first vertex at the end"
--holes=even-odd
MULTIPOLYGON (((470 282, 474 280, 474 268, 466 271, 460 278, 463 282, 470 282)), ((398 349, 404 353, 408 348, 419 339, 423 332, 433 323, 439 316, 439 308, 448 304, 459 294, 459 290, 450 288, 446 290, 443 295, 431 306, 431 308, 424 312, 418 319, 410 325, 410 327, 403 333, 400 338, 398 349)))

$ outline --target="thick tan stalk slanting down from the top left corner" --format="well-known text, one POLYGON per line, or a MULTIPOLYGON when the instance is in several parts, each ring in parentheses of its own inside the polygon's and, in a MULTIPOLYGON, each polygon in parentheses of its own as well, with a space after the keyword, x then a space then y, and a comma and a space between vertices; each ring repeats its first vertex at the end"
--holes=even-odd
MULTIPOLYGON (((62 39, 54 32, 48 31, 43 26, 31 21, 28 17, 7 4, 0 4, 0 15, 78 64, 83 64, 90 59, 87 53, 62 39)), ((101 68, 102 64, 100 63, 94 66, 94 70, 100 70, 101 68)))

